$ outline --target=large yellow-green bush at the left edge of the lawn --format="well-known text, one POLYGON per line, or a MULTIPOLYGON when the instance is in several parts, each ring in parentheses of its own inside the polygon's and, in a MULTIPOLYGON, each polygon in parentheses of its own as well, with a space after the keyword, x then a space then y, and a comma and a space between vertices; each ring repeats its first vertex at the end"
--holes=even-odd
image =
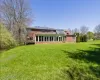
POLYGON ((0 24, 0 49, 9 49, 16 46, 16 41, 3 24, 0 24))

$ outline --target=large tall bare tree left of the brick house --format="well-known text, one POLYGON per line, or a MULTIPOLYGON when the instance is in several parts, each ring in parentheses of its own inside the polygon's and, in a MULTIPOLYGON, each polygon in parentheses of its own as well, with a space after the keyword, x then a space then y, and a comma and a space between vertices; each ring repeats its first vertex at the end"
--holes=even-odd
POLYGON ((26 27, 33 19, 30 13, 25 0, 3 0, 0 3, 0 17, 19 43, 25 40, 26 27))

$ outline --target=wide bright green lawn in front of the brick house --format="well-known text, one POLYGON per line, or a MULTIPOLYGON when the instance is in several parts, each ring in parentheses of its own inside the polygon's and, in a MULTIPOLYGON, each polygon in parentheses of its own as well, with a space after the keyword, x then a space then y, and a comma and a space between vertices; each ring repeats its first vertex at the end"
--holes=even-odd
POLYGON ((4 51, 0 80, 100 80, 100 41, 27 45, 4 51))

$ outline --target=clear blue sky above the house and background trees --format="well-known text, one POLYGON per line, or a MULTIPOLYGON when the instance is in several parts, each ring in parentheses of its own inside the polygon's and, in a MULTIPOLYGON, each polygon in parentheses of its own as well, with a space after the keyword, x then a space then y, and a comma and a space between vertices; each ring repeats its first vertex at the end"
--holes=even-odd
POLYGON ((100 0, 30 0, 34 14, 32 26, 74 29, 100 24, 100 0))

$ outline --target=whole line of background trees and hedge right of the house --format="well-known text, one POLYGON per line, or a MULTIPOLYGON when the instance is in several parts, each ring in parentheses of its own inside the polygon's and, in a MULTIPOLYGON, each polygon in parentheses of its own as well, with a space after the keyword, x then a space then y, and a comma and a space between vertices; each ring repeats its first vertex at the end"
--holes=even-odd
POLYGON ((94 28, 94 31, 89 31, 86 26, 81 26, 80 29, 68 29, 73 35, 76 35, 76 42, 87 42, 88 40, 100 39, 100 24, 94 28))

